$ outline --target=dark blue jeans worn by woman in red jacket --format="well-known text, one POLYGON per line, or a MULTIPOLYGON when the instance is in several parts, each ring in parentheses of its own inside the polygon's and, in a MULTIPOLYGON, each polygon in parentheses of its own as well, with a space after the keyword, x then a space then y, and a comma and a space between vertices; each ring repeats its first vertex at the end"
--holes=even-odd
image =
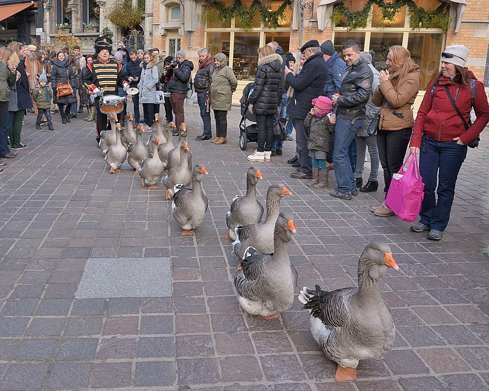
POLYGON ((420 174, 424 183, 420 222, 445 231, 450 219, 455 183, 467 156, 467 145, 456 141, 436 141, 423 134, 420 148, 420 174), (435 189, 438 189, 438 200, 435 189))

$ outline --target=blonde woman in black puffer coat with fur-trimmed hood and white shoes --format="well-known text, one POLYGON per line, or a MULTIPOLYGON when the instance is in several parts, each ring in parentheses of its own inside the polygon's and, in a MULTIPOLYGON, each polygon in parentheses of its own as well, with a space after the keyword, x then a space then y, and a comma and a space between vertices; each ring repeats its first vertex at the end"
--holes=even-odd
POLYGON ((260 60, 256 68, 254 90, 248 102, 248 109, 256 114, 258 148, 248 156, 250 161, 270 161, 273 144, 273 116, 277 114, 282 101, 283 79, 282 57, 272 47, 258 49, 260 60))

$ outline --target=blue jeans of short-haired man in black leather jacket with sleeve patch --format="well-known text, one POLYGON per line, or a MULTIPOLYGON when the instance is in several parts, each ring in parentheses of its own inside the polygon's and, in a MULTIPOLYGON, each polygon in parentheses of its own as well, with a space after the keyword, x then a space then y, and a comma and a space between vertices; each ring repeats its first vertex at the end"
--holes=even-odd
POLYGON ((363 126, 363 122, 363 120, 350 120, 342 117, 336 119, 333 164, 336 183, 341 193, 351 192, 356 188, 348 151, 355 139, 356 132, 363 126))

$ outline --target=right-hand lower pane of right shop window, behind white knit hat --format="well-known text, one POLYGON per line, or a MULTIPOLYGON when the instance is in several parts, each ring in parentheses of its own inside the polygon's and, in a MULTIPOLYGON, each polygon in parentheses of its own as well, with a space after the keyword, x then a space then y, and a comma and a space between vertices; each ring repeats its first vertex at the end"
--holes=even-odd
POLYGON ((409 33, 407 49, 414 62, 420 66, 420 89, 426 89, 440 69, 443 34, 409 33))

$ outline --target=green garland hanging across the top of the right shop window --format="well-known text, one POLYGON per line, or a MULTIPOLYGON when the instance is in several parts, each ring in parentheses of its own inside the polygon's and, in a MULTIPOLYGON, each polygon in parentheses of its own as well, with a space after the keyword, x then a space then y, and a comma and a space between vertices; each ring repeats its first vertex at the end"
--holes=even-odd
POLYGON ((367 27, 367 19, 373 4, 377 4, 380 8, 379 22, 386 27, 395 21, 396 15, 404 6, 409 9, 410 20, 414 25, 413 29, 422 27, 440 28, 446 33, 450 27, 448 3, 441 2, 437 9, 431 11, 418 7, 413 0, 397 0, 395 3, 388 3, 384 0, 368 0, 363 9, 358 11, 350 11, 343 3, 338 3, 333 7, 331 20, 334 24, 341 25, 346 17, 343 26, 347 27, 349 31, 365 28, 367 27))

